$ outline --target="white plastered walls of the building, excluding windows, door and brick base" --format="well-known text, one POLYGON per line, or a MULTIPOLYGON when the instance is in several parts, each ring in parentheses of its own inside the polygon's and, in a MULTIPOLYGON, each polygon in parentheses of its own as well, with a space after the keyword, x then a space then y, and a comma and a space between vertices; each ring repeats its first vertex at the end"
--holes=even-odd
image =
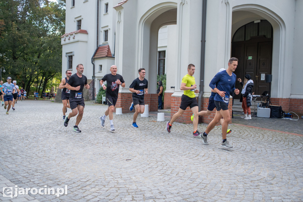
MULTIPOLYGON (((156 11, 157 8, 168 4, 178 9, 177 25, 175 25, 175 28, 171 27, 175 29, 175 32, 170 33, 169 26, 171 25, 169 25, 167 26, 168 31, 166 33, 160 32, 157 39, 159 48, 165 48, 165 40, 167 40, 165 69, 166 71, 170 68, 173 69, 171 71, 172 75, 167 79, 167 86, 175 86, 176 91, 178 91, 181 78, 187 73, 186 66, 189 63, 196 65, 194 76, 198 83, 200 80, 202 1, 174 0, 166 2, 163 0, 129 0, 114 10, 112 7, 119 2, 120 0, 99 1, 99 44, 105 45, 108 43, 112 55, 116 53, 115 64, 118 66, 118 73, 127 78, 127 85, 134 78, 138 77, 137 70, 142 67, 142 64, 143 66, 152 64, 149 63, 149 43, 151 39, 154 40, 155 36, 154 34, 148 34, 150 38, 147 35, 142 35, 141 32, 150 31, 153 20, 163 12, 163 10, 161 12, 156 11), (108 14, 105 14, 104 5, 107 2, 109 4, 108 14), (154 10, 155 12, 153 12, 154 10), (143 27, 140 27, 140 25, 143 27), (105 29, 109 30, 107 43, 103 41, 105 29), (117 34, 117 31, 119 31, 120 35, 115 40, 115 32, 117 34), (167 39, 165 39, 166 34, 167 39), (174 37, 175 41, 170 41, 174 37), (170 52, 170 43, 172 44, 171 47, 176 51, 170 52)), ((67 57, 65 57, 65 53, 67 52, 74 52, 75 54, 73 57, 73 73, 75 73, 75 66, 78 63, 82 63, 85 67, 84 74, 88 78, 92 76, 91 58, 96 49, 96 4, 96 1, 92 0, 85 2, 75 1, 75 7, 71 8, 68 6, 71 5, 71 1, 68 0, 66 2, 66 33, 75 31, 76 20, 81 18, 82 29, 87 30, 88 35, 86 41, 85 34, 76 35, 75 39, 84 39, 82 41, 62 41, 63 77, 65 77, 67 66, 67 57)), ((208 1, 205 44, 205 95, 208 96, 210 94, 208 84, 216 72, 222 67, 227 68, 228 59, 231 57, 232 34, 238 27, 245 24, 245 19, 250 20, 249 18, 238 18, 237 22, 233 21, 232 12, 241 10, 243 12, 251 12, 253 14, 251 19, 254 16, 259 16, 259 19, 267 19, 273 26, 272 97, 288 98, 291 96, 301 98, 303 92, 299 87, 299 82, 301 81, 299 75, 302 74, 300 60, 302 58, 301 33, 303 31, 301 26, 303 14, 300 12, 301 8, 303 8, 302 4, 302 1, 299 0, 208 1)), ((101 78, 105 73, 108 73, 107 71, 98 72, 99 64, 102 64, 105 70, 105 66, 113 63, 107 60, 110 59, 95 60, 96 77, 101 78)), ((147 77, 149 76, 148 74, 149 72, 146 75, 147 77)), ((128 89, 125 89, 125 92, 127 91, 128 89)), ((179 91, 175 95, 181 95, 182 93, 182 91, 179 91)))

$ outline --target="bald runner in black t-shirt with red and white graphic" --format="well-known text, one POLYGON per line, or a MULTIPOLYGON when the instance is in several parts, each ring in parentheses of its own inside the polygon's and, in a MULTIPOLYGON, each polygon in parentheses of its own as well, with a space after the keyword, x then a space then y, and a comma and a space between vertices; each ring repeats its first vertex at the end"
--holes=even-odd
POLYGON ((109 123, 111 125, 111 131, 115 130, 113 124, 113 112, 115 109, 115 105, 118 100, 119 86, 121 85, 123 88, 125 87, 124 79, 121 75, 117 74, 117 66, 112 65, 110 68, 111 74, 105 75, 100 84, 103 87, 103 90, 106 89, 105 98, 108 103, 108 108, 105 111, 103 116, 100 116, 101 125, 104 126, 105 118, 109 115, 109 123), (106 81, 108 88, 103 84, 106 81))

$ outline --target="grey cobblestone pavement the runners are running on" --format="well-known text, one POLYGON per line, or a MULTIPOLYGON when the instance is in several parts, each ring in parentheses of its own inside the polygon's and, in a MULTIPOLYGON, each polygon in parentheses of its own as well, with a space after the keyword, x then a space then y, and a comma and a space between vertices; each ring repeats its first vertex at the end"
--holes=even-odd
POLYGON ((18 101, 15 108, 0 110, 0 201, 303 200, 302 136, 230 125, 227 150, 219 126, 204 145, 192 125, 173 124, 168 134, 152 115, 138 116, 133 128, 132 113, 114 114, 110 132, 108 118, 105 128, 98 119, 105 105, 85 106, 81 133, 72 131, 75 117, 63 126, 62 104, 18 101), (68 194, 2 196, 2 187, 15 185, 68 185, 68 194))

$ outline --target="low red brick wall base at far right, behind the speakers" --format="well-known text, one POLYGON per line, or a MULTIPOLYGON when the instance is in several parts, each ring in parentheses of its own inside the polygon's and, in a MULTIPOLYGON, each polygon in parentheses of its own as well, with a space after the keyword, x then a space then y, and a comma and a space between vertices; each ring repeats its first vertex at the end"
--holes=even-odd
POLYGON ((272 105, 282 107, 286 113, 292 111, 298 114, 299 118, 303 115, 303 99, 295 98, 270 98, 272 105))

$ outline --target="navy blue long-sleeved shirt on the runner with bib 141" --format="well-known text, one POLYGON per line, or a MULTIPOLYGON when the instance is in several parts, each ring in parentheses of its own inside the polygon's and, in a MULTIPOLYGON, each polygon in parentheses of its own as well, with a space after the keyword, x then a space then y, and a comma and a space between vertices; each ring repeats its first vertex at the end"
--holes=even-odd
POLYGON ((237 76, 232 72, 232 75, 229 76, 226 71, 218 72, 211 82, 209 87, 212 89, 218 88, 219 91, 225 91, 225 98, 222 98, 218 93, 215 95, 215 101, 225 101, 229 102, 229 96, 231 91, 235 91, 237 76))

